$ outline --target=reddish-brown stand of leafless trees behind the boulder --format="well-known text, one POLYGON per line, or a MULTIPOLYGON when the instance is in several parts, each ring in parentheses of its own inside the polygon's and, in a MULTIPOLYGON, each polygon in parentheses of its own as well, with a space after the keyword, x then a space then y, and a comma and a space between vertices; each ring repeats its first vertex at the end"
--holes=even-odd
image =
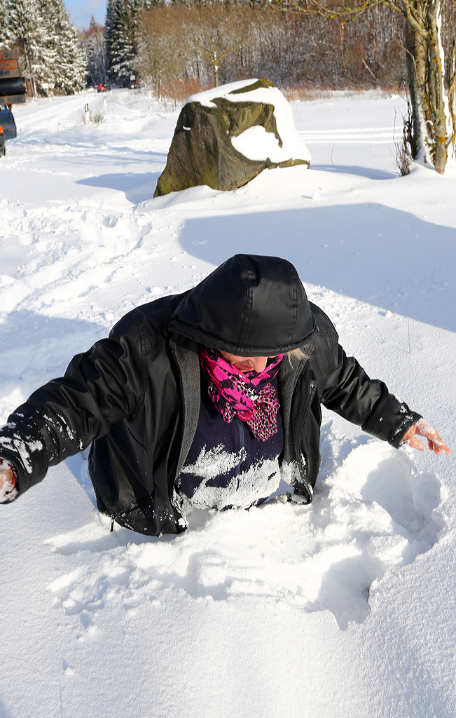
POLYGON ((156 93, 248 77, 282 88, 398 88, 404 22, 385 8, 340 24, 271 6, 153 5, 138 12, 135 67, 156 93))

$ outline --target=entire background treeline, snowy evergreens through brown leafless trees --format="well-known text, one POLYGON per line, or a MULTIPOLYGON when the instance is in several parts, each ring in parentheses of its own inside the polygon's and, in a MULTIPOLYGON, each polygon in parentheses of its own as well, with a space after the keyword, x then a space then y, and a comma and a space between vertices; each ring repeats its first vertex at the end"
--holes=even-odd
MULTIPOLYGON (((443 16, 451 58, 455 1, 443 16)), ((183 99, 212 85, 267 77, 289 90, 403 88, 404 20, 376 6, 353 22, 257 0, 108 0, 105 27, 79 36, 62 0, 0 0, 0 47, 16 50, 34 93, 137 79, 183 99)))

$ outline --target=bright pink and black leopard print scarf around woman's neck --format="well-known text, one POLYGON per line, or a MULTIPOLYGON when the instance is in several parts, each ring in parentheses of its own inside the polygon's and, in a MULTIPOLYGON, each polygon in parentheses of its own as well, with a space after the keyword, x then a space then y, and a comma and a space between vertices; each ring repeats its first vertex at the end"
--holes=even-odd
POLYGON ((277 354, 264 371, 242 372, 216 350, 199 347, 201 368, 209 381, 209 396, 228 423, 237 416, 250 427, 258 441, 277 432, 277 401, 270 380, 275 377, 283 354, 277 354))

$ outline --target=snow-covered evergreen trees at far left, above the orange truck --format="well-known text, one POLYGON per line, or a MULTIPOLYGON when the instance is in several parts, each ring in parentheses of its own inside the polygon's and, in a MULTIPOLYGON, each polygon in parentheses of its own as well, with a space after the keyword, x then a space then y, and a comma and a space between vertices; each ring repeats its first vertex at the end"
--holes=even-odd
POLYGON ((85 87, 85 52, 62 0, 0 0, 0 47, 17 52, 34 95, 85 87))

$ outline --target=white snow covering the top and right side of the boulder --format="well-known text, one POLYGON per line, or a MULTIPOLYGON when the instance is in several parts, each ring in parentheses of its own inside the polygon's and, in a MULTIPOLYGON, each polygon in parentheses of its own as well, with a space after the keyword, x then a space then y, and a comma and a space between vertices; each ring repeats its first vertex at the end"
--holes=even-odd
POLYGON ((256 82, 256 78, 253 78, 222 85, 219 88, 191 95, 187 103, 199 102, 206 107, 214 107, 214 99, 224 98, 229 102, 258 102, 272 105, 274 106, 277 132, 282 144, 280 145, 277 137, 272 132, 267 132, 262 126, 254 126, 237 137, 232 137, 231 141, 234 149, 247 157, 247 159, 257 161, 269 158, 271 162, 276 164, 288 162, 290 159, 302 159, 305 162, 310 162, 310 152, 295 129, 291 107, 280 90, 274 87, 256 88, 251 92, 232 94, 234 90, 241 90, 247 85, 255 84, 256 82))

